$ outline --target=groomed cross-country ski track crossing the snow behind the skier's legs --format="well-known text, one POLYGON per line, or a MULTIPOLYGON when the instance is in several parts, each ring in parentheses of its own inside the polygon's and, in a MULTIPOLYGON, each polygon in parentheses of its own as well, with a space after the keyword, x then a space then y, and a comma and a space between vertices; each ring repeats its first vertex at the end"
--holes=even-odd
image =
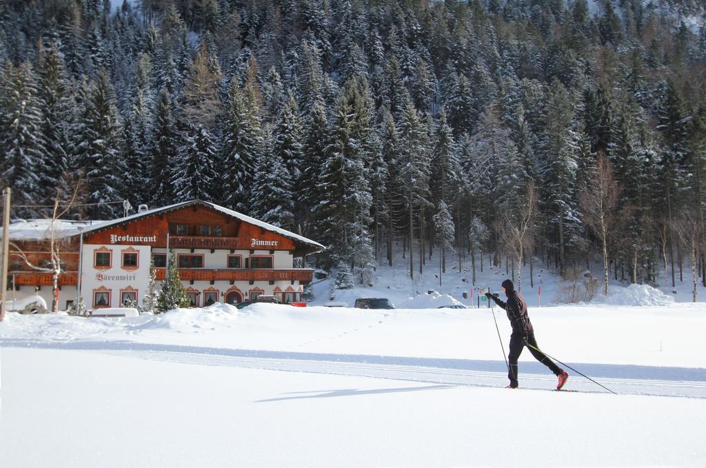
MULTIPOLYGON (((175 364, 260 368, 268 371, 325 373, 435 383, 449 386, 497 387, 507 383, 503 361, 433 359, 359 354, 223 349, 137 342, 42 342, 4 340, 4 347, 32 347, 100 352, 175 364)), ((573 364, 582 373, 623 395, 706 399, 706 368, 676 368, 615 364, 573 364)), ((566 368, 566 390, 608 393, 566 368)), ((520 388, 554 390, 556 377, 537 362, 520 361, 520 388)))

